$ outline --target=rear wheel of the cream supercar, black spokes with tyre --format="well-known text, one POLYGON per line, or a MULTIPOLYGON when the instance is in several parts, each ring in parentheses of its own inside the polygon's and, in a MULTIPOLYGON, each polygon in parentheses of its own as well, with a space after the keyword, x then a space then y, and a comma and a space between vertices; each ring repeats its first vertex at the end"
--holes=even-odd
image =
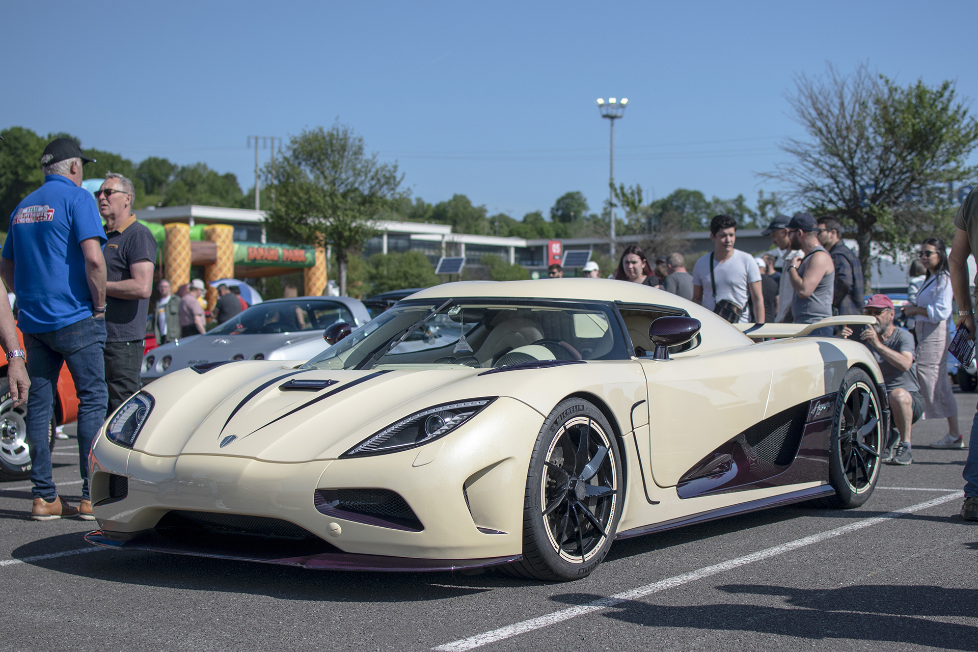
POLYGON ((882 411, 872 380, 863 369, 849 369, 835 400, 829 454, 829 483, 835 496, 820 499, 826 507, 858 507, 879 478, 885 446, 882 411))

